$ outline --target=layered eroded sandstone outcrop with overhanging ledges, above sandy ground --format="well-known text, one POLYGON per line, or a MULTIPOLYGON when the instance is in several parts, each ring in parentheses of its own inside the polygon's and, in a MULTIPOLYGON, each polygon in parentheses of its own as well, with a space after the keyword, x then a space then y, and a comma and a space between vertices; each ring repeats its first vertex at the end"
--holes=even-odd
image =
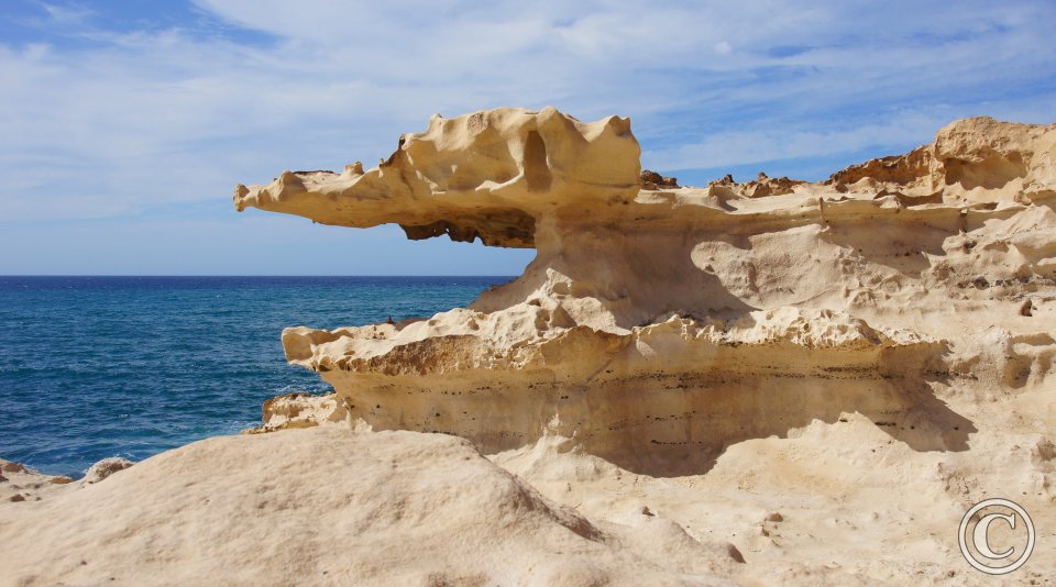
MULTIPOLYGON (((686 475, 843 412, 919 451, 965 450, 975 428, 933 387, 994 367, 952 317, 1047 307, 1054 144, 1049 128, 970 119, 822 184, 639 189, 627 120, 502 109, 433 117, 362 174, 240 186, 235 206, 538 251, 469 309, 287 329, 287 358, 337 390, 321 418, 452 433, 485 453, 557 434, 630 470, 686 475)), ((1044 375, 1036 357, 1054 350, 1009 355, 1042 363, 997 367, 1001 383, 1044 375)))

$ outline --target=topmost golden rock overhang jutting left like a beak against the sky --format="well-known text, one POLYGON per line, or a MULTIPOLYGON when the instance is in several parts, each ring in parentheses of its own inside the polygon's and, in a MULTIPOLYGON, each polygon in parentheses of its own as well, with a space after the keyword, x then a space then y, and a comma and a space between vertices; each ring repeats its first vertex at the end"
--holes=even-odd
POLYGON ((397 223, 414 240, 531 247, 539 211, 632 200, 639 154, 630 121, 618 117, 584 124, 552 108, 438 114, 369 171, 359 162, 341 174, 285 171, 267 187, 239 186, 234 204, 340 226, 397 223))

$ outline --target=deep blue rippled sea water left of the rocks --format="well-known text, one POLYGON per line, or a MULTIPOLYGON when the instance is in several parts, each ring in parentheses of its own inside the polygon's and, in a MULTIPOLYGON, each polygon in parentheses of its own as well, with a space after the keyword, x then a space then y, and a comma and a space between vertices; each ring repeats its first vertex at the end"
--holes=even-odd
POLYGON ((0 277, 0 457, 80 476, 324 392, 283 328, 428 317, 509 277, 0 277))

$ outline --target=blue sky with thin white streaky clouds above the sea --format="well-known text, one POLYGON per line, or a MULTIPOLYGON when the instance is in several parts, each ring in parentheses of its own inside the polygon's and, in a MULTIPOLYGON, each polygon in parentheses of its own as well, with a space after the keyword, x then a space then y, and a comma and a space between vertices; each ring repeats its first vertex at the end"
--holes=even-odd
POLYGON ((3 0, 0 275, 517 275, 532 251, 250 210, 430 114, 630 117, 644 167, 822 179, 1056 122, 1056 2, 3 0))

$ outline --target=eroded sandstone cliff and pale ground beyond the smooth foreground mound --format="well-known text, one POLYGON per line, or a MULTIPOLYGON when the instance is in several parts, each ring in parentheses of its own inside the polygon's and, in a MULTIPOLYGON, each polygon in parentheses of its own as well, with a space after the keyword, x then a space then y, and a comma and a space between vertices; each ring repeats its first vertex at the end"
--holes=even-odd
MULTIPOLYGON (((953 527, 974 502, 1013 496, 1056 524, 1056 125, 961 120, 827 181, 690 188, 628 186, 622 119, 439 120, 362 185, 295 174, 235 193, 538 252, 466 309, 287 329, 287 358, 336 389, 295 400, 296 425, 463 436, 584 513, 659 506, 727 536, 749 551, 741 580, 767 584, 972 584, 953 527), (430 215, 408 221, 409 200, 430 215)), ((1052 555, 1031 565, 1024 584, 1056 573, 1052 555)))

